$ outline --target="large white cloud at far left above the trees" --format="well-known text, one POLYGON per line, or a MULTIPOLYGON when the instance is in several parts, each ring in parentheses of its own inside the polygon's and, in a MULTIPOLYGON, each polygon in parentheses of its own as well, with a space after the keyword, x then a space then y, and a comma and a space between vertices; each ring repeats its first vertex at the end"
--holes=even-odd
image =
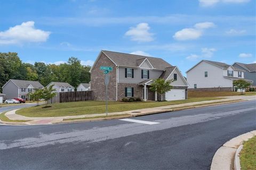
POLYGON ((51 32, 35 29, 34 24, 34 21, 23 22, 21 25, 1 31, 0 45, 45 42, 51 32))

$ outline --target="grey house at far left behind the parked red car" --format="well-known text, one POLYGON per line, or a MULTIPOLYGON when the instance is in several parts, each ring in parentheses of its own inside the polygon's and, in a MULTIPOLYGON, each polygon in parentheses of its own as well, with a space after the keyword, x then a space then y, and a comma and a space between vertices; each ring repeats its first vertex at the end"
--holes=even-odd
POLYGON ((20 97, 27 100, 29 98, 29 92, 34 92, 35 89, 42 89, 43 87, 44 86, 39 83, 39 81, 10 79, 4 84, 2 89, 3 93, 6 95, 5 99, 20 97))

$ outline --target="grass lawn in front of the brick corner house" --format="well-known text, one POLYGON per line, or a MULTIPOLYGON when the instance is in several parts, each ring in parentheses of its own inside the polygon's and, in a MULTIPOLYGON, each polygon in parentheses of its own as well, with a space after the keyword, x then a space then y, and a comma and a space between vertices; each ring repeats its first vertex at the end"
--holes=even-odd
MULTIPOLYGON (((151 108, 159 106, 168 106, 175 104, 191 103, 196 101, 217 100, 220 98, 204 97, 204 98, 190 98, 187 100, 175 101, 147 101, 147 102, 122 102, 122 101, 109 101, 108 111, 111 112, 124 112, 132 111, 142 108, 151 108)), ((69 103, 56 103, 43 108, 45 105, 27 107, 18 110, 16 113, 27 117, 56 117, 56 116, 75 116, 85 114, 105 113, 105 101, 77 101, 69 103)))

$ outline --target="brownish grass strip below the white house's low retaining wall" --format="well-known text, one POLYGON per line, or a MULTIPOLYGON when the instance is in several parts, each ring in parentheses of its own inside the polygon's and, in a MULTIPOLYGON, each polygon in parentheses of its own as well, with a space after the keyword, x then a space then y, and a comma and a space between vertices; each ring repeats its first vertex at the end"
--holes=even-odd
MULTIPOLYGON (((188 91, 189 98, 195 97, 223 97, 223 96, 238 96, 241 92, 233 91, 188 91)), ((245 96, 256 95, 256 91, 245 92, 245 96)))

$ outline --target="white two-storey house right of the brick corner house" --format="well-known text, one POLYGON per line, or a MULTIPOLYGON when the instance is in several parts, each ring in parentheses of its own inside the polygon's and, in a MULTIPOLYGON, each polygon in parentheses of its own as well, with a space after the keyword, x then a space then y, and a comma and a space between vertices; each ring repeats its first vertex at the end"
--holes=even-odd
MULTIPOLYGON (((244 79, 244 70, 226 63, 202 60, 189 69, 189 90, 234 91, 233 81, 244 79)), ((246 80, 246 79, 244 79, 246 80)), ((253 82, 252 80, 246 80, 253 82)))

